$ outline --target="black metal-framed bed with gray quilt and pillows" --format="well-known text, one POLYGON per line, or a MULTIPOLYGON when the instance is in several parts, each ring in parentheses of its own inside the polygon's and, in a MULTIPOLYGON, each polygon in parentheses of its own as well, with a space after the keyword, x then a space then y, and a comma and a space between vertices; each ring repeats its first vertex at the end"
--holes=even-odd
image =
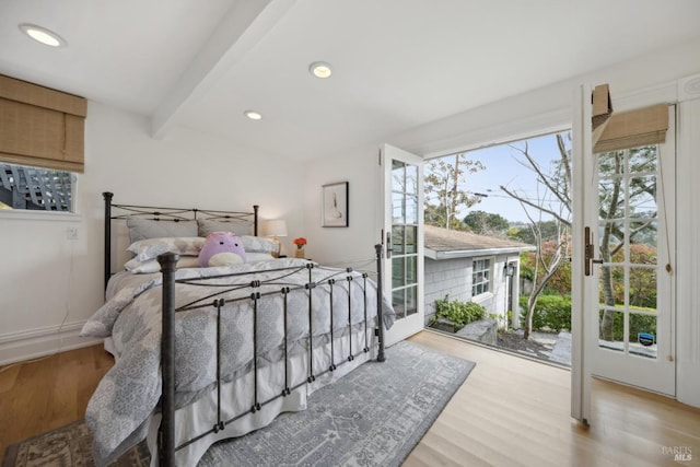
POLYGON ((206 211, 104 199, 106 300, 82 330, 105 338, 115 355, 85 413, 98 465, 143 439, 153 465, 196 465, 214 442, 304 410, 317 388, 384 360, 394 312, 376 287, 381 245, 373 271, 331 268, 273 258, 277 245, 258 236, 257 206, 206 211), (205 234, 223 229, 243 240, 248 261, 197 267, 205 234))

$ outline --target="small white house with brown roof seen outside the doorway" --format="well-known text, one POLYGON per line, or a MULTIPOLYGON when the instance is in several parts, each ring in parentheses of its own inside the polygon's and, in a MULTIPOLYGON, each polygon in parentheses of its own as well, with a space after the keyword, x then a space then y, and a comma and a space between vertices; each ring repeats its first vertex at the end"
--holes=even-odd
MULTIPOLYGON (((508 323, 517 310, 520 254, 535 246, 509 238, 477 235, 425 225, 425 325, 435 314, 435 300, 459 300, 483 305, 488 315, 508 323)), ((518 313, 509 326, 518 327, 518 313)))

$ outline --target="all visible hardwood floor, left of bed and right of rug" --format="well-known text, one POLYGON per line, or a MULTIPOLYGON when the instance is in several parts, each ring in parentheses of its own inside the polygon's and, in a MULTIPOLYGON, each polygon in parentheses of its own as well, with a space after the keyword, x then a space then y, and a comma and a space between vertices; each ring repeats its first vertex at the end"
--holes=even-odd
MULTIPOLYGON (((700 409, 596 380, 585 429, 569 415, 568 371, 430 331, 409 340, 477 366, 406 467, 700 465, 700 409), (691 459, 674 462, 674 448, 691 459)), ((9 444, 81 419, 112 364, 94 346, 0 369, 3 455, 9 444)))

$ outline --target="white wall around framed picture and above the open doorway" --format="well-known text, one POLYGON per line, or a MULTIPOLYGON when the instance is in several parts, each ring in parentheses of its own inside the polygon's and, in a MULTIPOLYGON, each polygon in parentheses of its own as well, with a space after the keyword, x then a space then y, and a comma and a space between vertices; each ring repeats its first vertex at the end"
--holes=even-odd
MULTIPOLYGON (((615 107, 616 98, 640 92, 657 94, 662 101, 675 102, 676 81, 696 73, 700 73, 700 39, 658 50, 594 73, 552 83, 529 93, 395 135, 384 142, 430 157, 521 139, 544 130, 570 128, 574 91, 583 83, 609 83, 615 107), (670 100, 667 101, 669 95, 670 100)), ((682 219, 679 225, 681 232, 678 232, 677 240, 679 259, 676 302, 677 398, 698 407, 700 407, 700 345, 698 343, 700 342, 700 303, 697 284, 700 278, 698 266, 700 261, 697 259, 700 258, 700 242, 698 242, 700 219, 693 210, 693 202, 700 198, 700 188, 697 183, 700 178, 700 165, 697 163, 700 154, 700 139, 696 131, 700 121, 699 107, 697 103, 681 105, 681 120, 678 124, 680 177, 676 187, 677 192, 684 195, 679 196, 679 212, 682 209, 689 212, 685 217, 677 217, 682 219), (690 260, 693 262, 689 262, 690 260)), ((361 246, 361 249, 366 249, 372 244, 368 240, 371 233, 369 229, 373 226, 373 233, 378 231, 378 224, 376 221, 373 222, 373 219, 377 219, 374 207, 381 202, 378 175, 375 175, 378 166, 373 165, 378 147, 377 142, 374 151, 369 149, 348 152, 342 159, 324 161, 319 167, 310 171, 310 176, 306 178, 310 182, 306 192, 307 221, 312 219, 308 217, 310 212, 319 210, 316 201, 316 186, 322 183, 350 179, 351 194, 355 194, 354 197, 351 195, 351 203, 371 202, 360 211, 363 215, 362 220, 358 219, 359 212, 354 211, 352 231, 322 232, 317 227, 310 231, 313 234, 311 235, 313 242, 317 243, 322 259, 332 259, 346 253, 348 242, 361 246), (358 195, 358 189, 363 192, 358 195), (359 232, 358 224, 362 229, 366 227, 368 232, 359 232)), ((352 223, 351 220, 351 225, 352 223)), ((354 246, 352 249, 355 249, 354 246)))

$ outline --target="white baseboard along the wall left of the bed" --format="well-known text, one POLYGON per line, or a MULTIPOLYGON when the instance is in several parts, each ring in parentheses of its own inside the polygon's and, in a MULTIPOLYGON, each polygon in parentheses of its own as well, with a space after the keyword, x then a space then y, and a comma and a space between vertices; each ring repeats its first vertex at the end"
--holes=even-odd
POLYGON ((0 336, 0 365, 37 359, 67 350, 102 342, 94 337, 80 337, 84 322, 67 323, 0 336))

